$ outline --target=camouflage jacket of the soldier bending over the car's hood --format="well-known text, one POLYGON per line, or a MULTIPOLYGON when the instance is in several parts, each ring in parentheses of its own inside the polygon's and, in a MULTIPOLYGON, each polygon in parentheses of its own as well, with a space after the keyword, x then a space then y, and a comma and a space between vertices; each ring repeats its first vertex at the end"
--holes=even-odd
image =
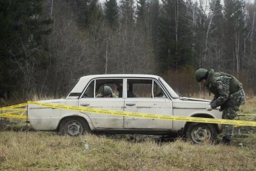
POLYGON ((212 108, 239 106, 244 102, 245 95, 242 83, 232 75, 209 70, 205 86, 214 94, 214 98, 210 102, 212 108), (242 90, 242 92, 239 90, 242 90))

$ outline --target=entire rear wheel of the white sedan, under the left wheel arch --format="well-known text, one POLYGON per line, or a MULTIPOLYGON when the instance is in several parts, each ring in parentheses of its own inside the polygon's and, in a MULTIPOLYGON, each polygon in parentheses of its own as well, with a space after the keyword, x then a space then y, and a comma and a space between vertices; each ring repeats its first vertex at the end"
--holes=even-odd
POLYGON ((84 132, 90 133, 91 130, 86 120, 81 117, 67 117, 60 122, 60 135, 79 136, 84 132))

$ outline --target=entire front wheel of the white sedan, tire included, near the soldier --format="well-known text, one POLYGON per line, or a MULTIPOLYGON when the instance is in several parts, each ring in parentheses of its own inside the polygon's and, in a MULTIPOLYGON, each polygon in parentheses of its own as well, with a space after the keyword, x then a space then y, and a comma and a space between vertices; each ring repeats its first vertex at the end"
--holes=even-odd
POLYGON ((186 131, 186 139, 194 144, 214 143, 217 131, 213 124, 191 123, 186 131))

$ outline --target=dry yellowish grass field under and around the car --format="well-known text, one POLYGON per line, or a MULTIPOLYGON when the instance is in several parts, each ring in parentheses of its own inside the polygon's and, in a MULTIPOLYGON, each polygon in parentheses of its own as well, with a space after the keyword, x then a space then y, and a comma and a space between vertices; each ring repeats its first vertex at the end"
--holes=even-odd
MULTIPOLYGON (((256 98, 248 99, 240 113, 255 113, 255 104, 256 98)), ((67 137, 27 129, 25 124, 1 125, 0 170, 256 170, 255 127, 236 128, 231 146, 150 135, 67 137)))

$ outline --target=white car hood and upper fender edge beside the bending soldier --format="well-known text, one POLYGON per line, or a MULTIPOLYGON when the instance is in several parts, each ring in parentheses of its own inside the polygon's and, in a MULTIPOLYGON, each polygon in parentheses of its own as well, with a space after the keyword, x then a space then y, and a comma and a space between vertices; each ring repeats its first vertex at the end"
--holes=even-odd
POLYGON ((210 100, 195 99, 182 97, 180 99, 173 100, 173 108, 206 108, 210 103, 210 100))

